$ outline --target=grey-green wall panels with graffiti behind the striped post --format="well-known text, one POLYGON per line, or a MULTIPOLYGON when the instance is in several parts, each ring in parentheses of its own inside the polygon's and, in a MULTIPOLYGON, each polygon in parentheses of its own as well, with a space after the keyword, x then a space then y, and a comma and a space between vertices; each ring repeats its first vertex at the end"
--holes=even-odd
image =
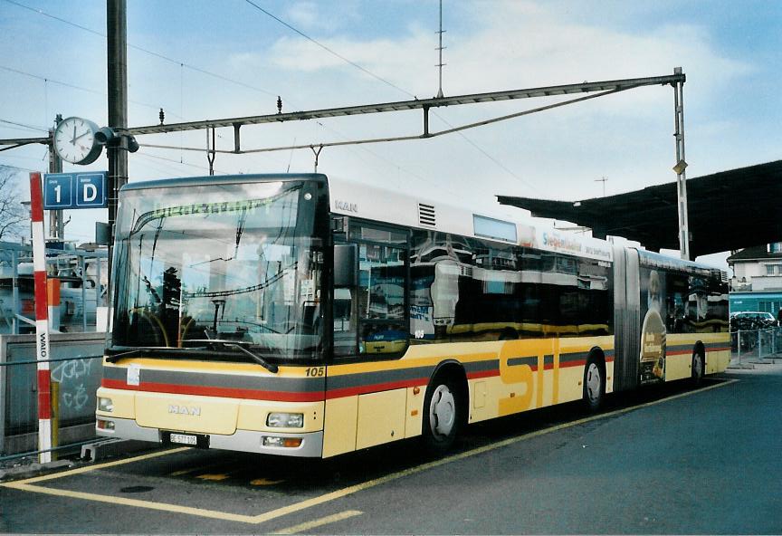
MULTIPOLYGON (((105 333, 52 333, 52 445, 94 439, 95 392, 105 333)), ((38 381, 33 335, 0 336, 0 460, 38 450, 38 381)))

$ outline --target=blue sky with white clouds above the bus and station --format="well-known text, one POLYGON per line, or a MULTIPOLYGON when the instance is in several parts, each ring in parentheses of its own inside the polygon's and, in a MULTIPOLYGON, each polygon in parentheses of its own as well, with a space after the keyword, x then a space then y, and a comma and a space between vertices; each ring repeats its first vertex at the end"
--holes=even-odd
MULTIPOLYGON (((437 0, 128 0, 129 126, 406 101, 438 91, 437 0)), ((688 177, 780 158, 782 2, 443 0, 443 94, 643 78, 682 67, 688 177)), ((106 4, 0 0, 0 139, 54 116, 107 123, 106 4)), ((556 99, 441 108, 430 129, 556 99)), ((481 207, 577 200, 672 182, 673 91, 653 86, 436 139, 324 148, 319 172, 481 207), (600 179, 606 178, 606 182, 600 179)), ((244 127, 243 148, 419 134, 421 111, 244 127)), ((231 129, 217 147, 233 148, 231 129)), ((129 180, 203 176, 205 132, 138 138, 129 180), (174 146, 148 148, 144 144, 174 146)), ((29 196, 42 145, 0 152, 29 196)), ((309 149, 215 159, 215 174, 310 172, 309 149)), ((106 169, 101 157, 87 167, 106 169)), ((511 209, 518 210, 518 209, 511 209)), ((105 210, 69 211, 66 239, 105 210)), ((748 244, 750 245, 750 244, 748 244)), ((725 255, 707 262, 724 263, 725 255)))

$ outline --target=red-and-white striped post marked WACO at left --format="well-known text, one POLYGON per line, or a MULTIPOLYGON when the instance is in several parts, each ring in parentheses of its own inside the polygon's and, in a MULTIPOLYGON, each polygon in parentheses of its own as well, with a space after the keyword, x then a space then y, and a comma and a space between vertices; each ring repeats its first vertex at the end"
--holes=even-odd
POLYGON ((52 377, 49 372, 49 311, 46 292, 46 243, 43 239, 41 174, 30 174, 35 280, 35 352, 38 360, 38 461, 52 461, 52 377))

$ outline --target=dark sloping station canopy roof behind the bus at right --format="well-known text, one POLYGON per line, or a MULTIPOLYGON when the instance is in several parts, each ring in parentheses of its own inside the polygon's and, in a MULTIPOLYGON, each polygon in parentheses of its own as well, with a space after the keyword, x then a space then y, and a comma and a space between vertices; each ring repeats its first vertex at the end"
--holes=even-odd
MULTIPOLYGON (((539 217, 624 236, 650 250, 679 249, 676 182, 617 196, 552 201, 497 196, 539 217)), ((782 160, 687 180, 691 258, 782 240, 782 160)))

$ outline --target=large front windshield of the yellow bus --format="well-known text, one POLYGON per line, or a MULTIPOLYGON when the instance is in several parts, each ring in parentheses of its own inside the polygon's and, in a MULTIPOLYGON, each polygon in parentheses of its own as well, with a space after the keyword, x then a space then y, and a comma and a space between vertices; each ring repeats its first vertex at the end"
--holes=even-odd
POLYGON ((246 360, 248 349, 264 359, 314 358, 323 240, 313 235, 316 199, 307 184, 123 191, 114 348, 181 349, 199 359, 246 360))

